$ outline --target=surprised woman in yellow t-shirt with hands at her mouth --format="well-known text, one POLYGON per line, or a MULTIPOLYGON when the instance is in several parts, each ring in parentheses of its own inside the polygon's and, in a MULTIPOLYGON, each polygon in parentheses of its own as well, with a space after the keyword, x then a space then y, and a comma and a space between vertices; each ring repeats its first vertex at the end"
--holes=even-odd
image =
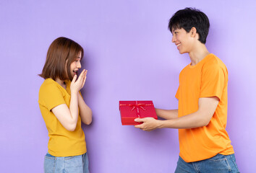
POLYGON ((39 107, 48 130, 45 172, 89 172, 85 133, 81 121, 92 122, 92 111, 82 99, 80 89, 87 71, 77 79, 84 55, 82 47, 66 37, 51 43, 39 90, 39 107))

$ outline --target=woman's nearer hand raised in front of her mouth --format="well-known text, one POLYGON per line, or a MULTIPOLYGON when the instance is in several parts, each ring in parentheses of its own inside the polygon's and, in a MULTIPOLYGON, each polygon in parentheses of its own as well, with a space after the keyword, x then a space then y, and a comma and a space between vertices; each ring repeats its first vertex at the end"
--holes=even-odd
POLYGON ((86 80, 86 74, 87 70, 85 69, 82 71, 80 76, 77 79, 77 75, 74 75, 72 82, 70 84, 70 91, 74 93, 78 93, 80 89, 85 85, 85 80, 86 80))

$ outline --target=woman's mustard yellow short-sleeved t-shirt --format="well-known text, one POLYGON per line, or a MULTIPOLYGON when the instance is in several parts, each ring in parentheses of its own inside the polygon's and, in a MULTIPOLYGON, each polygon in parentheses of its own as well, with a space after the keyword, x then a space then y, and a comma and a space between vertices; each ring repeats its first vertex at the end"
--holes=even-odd
POLYGON ((64 89, 53 79, 46 79, 39 90, 39 107, 48 130, 48 153, 53 156, 77 156, 86 153, 85 133, 81 128, 81 118, 78 116, 77 127, 74 131, 64 128, 52 108, 70 103, 70 81, 66 81, 64 89))

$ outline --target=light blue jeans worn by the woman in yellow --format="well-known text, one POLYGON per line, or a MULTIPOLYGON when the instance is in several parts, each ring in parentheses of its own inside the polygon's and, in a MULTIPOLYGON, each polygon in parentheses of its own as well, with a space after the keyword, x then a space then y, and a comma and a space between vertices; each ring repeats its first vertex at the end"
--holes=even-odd
POLYGON ((75 173, 90 173, 88 154, 79 156, 56 157, 51 154, 46 154, 44 157, 44 172, 59 173, 59 172, 75 172, 75 173))

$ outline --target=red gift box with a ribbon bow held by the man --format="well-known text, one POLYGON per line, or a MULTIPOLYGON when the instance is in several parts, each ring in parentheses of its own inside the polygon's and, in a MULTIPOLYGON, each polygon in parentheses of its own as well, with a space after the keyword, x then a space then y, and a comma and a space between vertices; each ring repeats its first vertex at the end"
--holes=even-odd
POLYGON ((122 125, 141 124, 141 122, 135 122, 137 117, 153 117, 155 120, 158 119, 152 101, 119 101, 119 110, 122 125))

